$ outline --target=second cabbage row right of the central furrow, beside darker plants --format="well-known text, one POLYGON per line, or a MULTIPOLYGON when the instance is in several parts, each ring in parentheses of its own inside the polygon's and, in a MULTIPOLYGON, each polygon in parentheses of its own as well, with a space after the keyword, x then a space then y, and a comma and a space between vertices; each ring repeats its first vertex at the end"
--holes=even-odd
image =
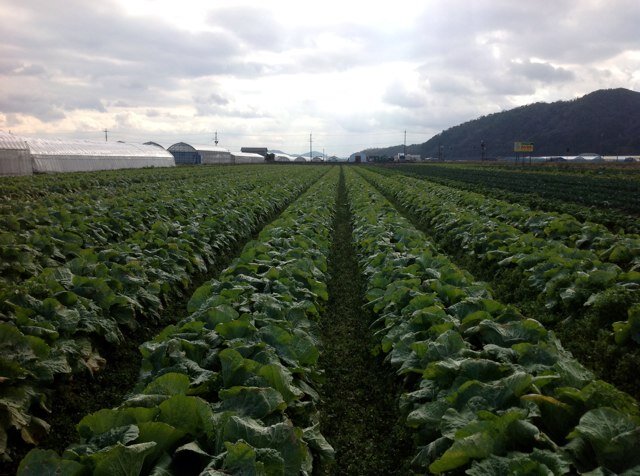
MULTIPOLYGON (((548 309, 580 313, 585 306, 594 306, 605 316, 612 313, 609 306, 620 307, 618 301, 610 300, 612 293, 617 297, 625 293, 629 303, 640 301, 640 240, 636 235, 612 235, 594 224, 580 227, 568 217, 559 217, 556 226, 551 215, 544 214, 548 220, 538 221, 538 212, 529 212, 532 221, 527 222, 526 209, 514 208, 514 216, 523 215, 519 223, 524 229, 519 229, 514 226, 517 218, 507 213, 490 217, 479 211, 490 206, 492 199, 467 196, 467 206, 458 208, 455 200, 464 201, 459 197, 466 192, 409 177, 363 173, 426 223, 446 248, 460 250, 489 267, 517 270, 525 286, 548 309)), ((614 325, 617 341, 640 343, 640 304, 630 304, 624 313, 614 325)))

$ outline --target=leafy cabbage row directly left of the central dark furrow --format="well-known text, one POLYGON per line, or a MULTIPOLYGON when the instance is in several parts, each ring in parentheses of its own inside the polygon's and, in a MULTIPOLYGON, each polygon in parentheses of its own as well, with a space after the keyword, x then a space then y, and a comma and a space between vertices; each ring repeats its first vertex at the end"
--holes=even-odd
POLYGON ((32 450, 19 475, 310 474, 318 430, 316 320, 337 169, 191 298, 192 314, 141 346, 137 389, 87 415, 62 456, 32 450))

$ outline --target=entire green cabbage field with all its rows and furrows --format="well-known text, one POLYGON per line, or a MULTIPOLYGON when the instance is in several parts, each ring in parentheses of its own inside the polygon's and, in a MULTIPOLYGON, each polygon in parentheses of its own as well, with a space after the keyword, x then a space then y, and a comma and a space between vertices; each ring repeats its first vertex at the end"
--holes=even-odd
POLYGON ((0 473, 640 474, 640 175, 523 170, 3 179, 0 473))

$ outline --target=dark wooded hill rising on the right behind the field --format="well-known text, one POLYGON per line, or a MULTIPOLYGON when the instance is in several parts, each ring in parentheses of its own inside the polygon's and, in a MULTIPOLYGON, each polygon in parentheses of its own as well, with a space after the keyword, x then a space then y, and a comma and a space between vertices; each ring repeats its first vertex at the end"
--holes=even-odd
MULTIPOLYGON (((482 116, 423 144, 407 146, 407 153, 480 159, 482 141, 487 158, 513 156, 515 141, 533 142, 536 156, 638 154, 640 93, 623 88, 598 90, 571 101, 540 102, 482 116)), ((402 151, 403 146, 397 145, 365 152, 392 157, 402 151)))

